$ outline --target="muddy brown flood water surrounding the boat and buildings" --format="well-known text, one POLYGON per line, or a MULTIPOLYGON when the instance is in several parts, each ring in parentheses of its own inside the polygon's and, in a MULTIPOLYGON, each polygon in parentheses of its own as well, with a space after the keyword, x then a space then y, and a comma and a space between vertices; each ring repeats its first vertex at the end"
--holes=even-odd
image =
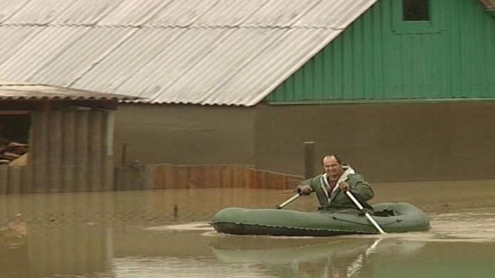
MULTIPOLYGON (((220 208, 275 208, 290 190, 203 188, 0 196, 0 277, 495 277, 495 181, 374 184, 427 232, 218 234, 220 208)), ((312 211, 314 196, 284 209, 312 211)))

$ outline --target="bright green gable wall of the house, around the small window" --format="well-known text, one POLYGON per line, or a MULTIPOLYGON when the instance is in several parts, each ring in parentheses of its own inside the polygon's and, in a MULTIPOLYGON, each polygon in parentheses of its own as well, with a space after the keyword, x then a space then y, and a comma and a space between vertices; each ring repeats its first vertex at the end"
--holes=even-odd
POLYGON ((495 18, 480 2, 432 0, 427 24, 401 22, 400 3, 375 3, 266 101, 495 99, 495 18))

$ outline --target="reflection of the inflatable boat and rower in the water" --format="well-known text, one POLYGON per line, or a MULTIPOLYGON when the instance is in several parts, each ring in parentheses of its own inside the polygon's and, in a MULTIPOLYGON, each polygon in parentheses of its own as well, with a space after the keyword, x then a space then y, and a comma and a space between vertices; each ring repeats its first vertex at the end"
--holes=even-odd
POLYGON ((371 256, 375 253, 414 256, 424 245, 414 241, 398 244, 396 240, 383 236, 339 237, 325 239, 326 242, 320 243, 307 240, 286 238, 279 241, 256 236, 224 236, 217 238, 212 247, 220 261, 236 265, 258 265, 259 268, 270 270, 273 277, 359 277, 364 272, 371 272, 371 256), (263 243, 266 240, 271 242, 263 247, 259 241, 263 243), (277 247, 274 247, 274 243, 277 247))

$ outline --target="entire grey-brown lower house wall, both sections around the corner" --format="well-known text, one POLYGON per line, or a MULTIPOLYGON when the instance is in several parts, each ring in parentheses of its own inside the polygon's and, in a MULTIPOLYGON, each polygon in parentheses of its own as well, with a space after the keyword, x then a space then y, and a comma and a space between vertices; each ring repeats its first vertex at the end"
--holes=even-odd
POLYGON ((268 106, 123 105, 115 164, 242 164, 303 175, 303 142, 372 182, 495 178, 495 102, 268 106), (254 128, 256 126, 256 129, 254 128))

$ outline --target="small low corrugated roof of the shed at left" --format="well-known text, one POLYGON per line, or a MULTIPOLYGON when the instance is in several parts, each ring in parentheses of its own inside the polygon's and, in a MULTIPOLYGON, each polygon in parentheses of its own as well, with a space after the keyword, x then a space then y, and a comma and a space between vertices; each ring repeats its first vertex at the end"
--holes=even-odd
POLYGON ((128 95, 106 94, 102 92, 92 92, 64 88, 56 85, 19 83, 0 80, 1 100, 22 100, 22 99, 78 99, 78 100, 136 100, 140 97, 128 95))

